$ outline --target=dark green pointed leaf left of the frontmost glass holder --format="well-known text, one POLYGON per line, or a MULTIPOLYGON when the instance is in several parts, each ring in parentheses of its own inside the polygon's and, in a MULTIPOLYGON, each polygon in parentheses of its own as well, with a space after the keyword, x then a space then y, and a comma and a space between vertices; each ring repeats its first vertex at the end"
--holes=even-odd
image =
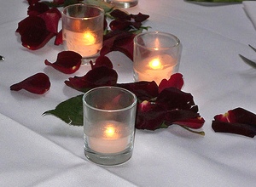
POLYGON ((83 126, 83 94, 67 99, 56 106, 55 110, 45 111, 44 115, 54 115, 73 126, 83 126))

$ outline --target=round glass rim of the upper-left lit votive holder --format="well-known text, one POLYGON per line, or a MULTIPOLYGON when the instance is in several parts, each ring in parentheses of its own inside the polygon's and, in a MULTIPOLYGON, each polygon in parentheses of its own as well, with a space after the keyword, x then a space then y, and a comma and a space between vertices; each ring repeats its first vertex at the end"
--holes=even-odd
POLYGON ((70 4, 68 5, 67 7, 63 8, 63 10, 61 11, 61 14, 62 16, 65 16, 67 17, 68 19, 72 19, 72 20, 92 20, 92 19, 96 19, 96 18, 99 18, 101 17, 102 15, 104 16, 105 14, 105 11, 103 8, 100 8, 100 7, 97 7, 95 5, 90 5, 90 4, 84 4, 84 3, 76 3, 76 4, 70 4), (70 16, 70 15, 67 15, 67 9, 68 8, 71 8, 71 7, 90 7, 90 8, 96 8, 98 10, 100 10, 100 14, 96 15, 96 16, 91 16, 91 17, 83 17, 83 18, 79 18, 79 17, 73 17, 73 16, 70 16), (66 11, 66 12, 65 12, 66 11))

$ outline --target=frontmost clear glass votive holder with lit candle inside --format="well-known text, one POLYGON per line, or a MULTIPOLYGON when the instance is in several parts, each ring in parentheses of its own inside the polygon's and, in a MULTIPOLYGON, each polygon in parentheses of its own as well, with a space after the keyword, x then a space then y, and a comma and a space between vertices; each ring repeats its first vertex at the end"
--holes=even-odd
POLYGON ((84 94, 84 155, 102 166, 132 156, 137 97, 124 88, 99 87, 84 94))

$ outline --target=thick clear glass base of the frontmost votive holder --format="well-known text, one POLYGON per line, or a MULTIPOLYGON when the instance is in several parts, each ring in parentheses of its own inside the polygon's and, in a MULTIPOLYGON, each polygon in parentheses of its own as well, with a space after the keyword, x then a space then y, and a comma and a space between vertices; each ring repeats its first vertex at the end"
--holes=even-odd
POLYGON ((132 148, 116 154, 101 154, 84 147, 84 155, 89 161, 104 167, 117 166, 129 161, 132 156, 132 148))

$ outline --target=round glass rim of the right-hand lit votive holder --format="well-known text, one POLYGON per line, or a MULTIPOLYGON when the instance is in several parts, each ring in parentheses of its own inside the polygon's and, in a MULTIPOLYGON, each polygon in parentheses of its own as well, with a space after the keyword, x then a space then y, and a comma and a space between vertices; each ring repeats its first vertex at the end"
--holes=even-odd
POLYGON ((146 47, 146 46, 143 46, 142 44, 140 44, 138 41, 138 37, 142 37, 146 34, 151 34, 151 35, 161 35, 161 36, 166 36, 166 37, 172 37, 176 43, 174 45, 170 45, 170 47, 160 47, 158 49, 169 49, 169 48, 176 48, 180 45, 180 40, 178 39, 178 37, 176 37, 175 35, 171 34, 171 33, 168 33, 168 32, 163 32, 163 31, 145 31, 145 32, 142 32, 142 33, 139 33, 137 34, 136 37, 134 37, 133 39, 133 42, 137 44, 137 46, 139 46, 140 48, 148 48, 148 49, 152 49, 154 50, 155 48, 153 47, 146 47))

